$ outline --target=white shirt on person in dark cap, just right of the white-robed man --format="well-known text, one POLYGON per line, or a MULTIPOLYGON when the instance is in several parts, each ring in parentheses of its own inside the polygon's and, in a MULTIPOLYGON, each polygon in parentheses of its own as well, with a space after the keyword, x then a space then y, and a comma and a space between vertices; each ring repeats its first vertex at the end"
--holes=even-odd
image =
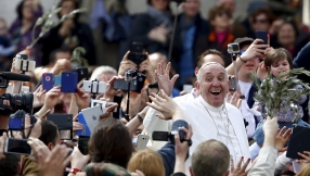
POLYGON ((241 113, 243 117, 245 118, 245 121, 248 122, 246 131, 247 131, 247 137, 250 138, 254 135, 255 128, 256 128, 255 117, 253 113, 249 112, 249 106, 247 104, 248 92, 251 87, 251 83, 245 83, 245 81, 238 80, 238 85, 240 85, 241 92, 245 96, 245 100, 242 101, 241 113))

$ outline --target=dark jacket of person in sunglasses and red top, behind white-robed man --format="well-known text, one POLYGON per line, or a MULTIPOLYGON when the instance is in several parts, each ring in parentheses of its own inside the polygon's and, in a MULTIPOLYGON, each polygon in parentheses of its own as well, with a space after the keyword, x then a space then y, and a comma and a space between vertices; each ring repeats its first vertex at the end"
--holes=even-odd
POLYGON ((201 55, 204 51, 208 49, 216 49, 224 54, 225 66, 231 64, 231 55, 228 53, 228 45, 234 41, 234 35, 228 33, 227 38, 222 45, 217 41, 217 35, 215 30, 211 30, 209 35, 201 36, 196 41, 195 55, 201 55))

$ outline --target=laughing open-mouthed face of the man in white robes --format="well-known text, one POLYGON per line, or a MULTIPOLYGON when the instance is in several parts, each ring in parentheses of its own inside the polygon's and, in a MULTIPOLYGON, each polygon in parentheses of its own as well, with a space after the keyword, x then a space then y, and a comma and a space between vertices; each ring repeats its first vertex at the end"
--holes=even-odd
POLYGON ((223 104, 229 87, 227 72, 219 64, 207 65, 198 73, 196 89, 212 106, 219 108, 223 104))

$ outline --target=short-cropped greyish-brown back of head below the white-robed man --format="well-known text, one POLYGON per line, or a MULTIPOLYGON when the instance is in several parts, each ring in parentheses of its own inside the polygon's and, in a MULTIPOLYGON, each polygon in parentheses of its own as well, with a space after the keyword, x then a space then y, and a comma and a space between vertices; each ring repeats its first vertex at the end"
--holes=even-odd
POLYGON ((215 139, 202 142, 192 155, 194 176, 223 176, 230 165, 229 149, 215 139))

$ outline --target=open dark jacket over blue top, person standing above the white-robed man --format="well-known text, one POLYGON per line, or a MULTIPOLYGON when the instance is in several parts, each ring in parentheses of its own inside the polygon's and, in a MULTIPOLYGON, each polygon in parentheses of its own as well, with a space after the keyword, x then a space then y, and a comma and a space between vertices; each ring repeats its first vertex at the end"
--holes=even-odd
MULTIPOLYGON (((180 28, 179 27, 180 18, 183 16, 184 16, 184 14, 180 14, 178 17, 179 21, 178 21, 178 26, 176 29, 176 35, 175 35, 173 51, 172 51, 172 62, 175 62, 175 63, 178 63, 180 61, 180 58, 183 53, 183 43, 186 42, 183 39, 184 32, 179 29, 180 28)), ((205 21, 201 16, 201 14, 197 14, 197 16, 195 17, 194 25, 196 26, 196 30, 195 30, 195 35, 194 35, 194 41, 193 41, 193 59, 194 59, 193 62, 194 62, 194 65, 196 66, 197 62, 198 62, 198 56, 199 56, 195 53, 196 41, 197 41, 198 37, 204 36, 204 35, 208 35, 210 33, 210 26, 209 26, 209 23, 207 23, 207 21, 205 21)))

